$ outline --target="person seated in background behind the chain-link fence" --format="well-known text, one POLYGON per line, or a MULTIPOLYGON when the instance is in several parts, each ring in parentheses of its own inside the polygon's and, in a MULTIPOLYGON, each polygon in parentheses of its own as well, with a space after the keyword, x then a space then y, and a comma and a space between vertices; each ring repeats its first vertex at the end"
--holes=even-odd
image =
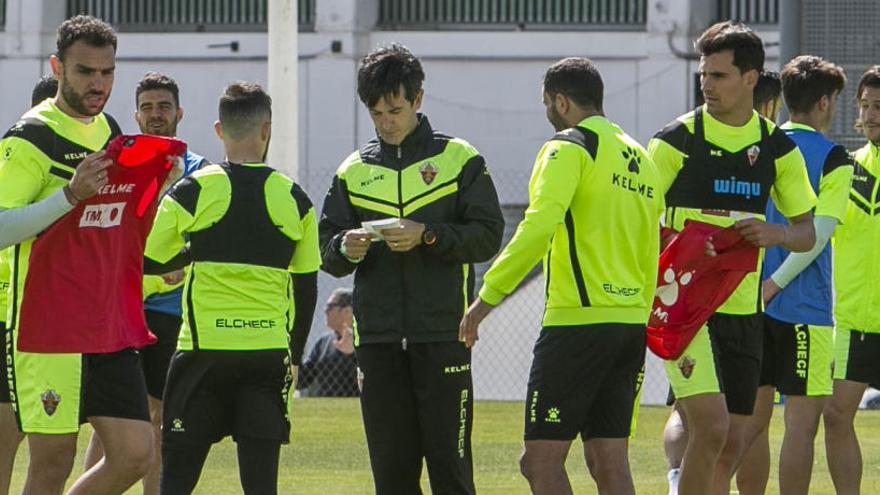
POLYGON ((326 332, 299 368, 296 388, 310 397, 357 397, 351 289, 336 289, 324 306, 326 332))

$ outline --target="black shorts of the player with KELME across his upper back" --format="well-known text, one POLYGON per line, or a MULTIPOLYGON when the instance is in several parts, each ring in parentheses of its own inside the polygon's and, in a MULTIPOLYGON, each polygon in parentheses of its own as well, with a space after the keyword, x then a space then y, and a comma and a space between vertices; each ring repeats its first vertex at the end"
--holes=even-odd
POLYGON ((529 373, 525 439, 629 436, 644 362, 644 325, 544 327, 529 373))

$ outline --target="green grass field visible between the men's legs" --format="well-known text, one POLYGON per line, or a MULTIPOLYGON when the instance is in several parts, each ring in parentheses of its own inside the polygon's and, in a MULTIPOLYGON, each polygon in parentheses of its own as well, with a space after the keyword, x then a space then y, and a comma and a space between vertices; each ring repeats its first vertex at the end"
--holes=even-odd
MULTIPOLYGON (((782 440, 782 410, 777 408, 771 427, 772 457, 778 458, 782 440)), ((636 492, 666 493, 666 464, 661 444, 663 424, 668 409, 642 407, 639 427, 630 445, 636 492)), ((356 399, 297 399, 294 403, 292 442, 282 449, 279 476, 281 494, 357 495, 372 491, 369 460, 356 399)), ((520 476, 517 458, 522 447, 523 406, 515 402, 477 402, 474 426, 474 469, 477 491, 481 494, 509 495, 528 493, 520 476)), ((862 493, 880 493, 880 413, 859 412, 857 428, 864 456, 862 493)), ((80 435, 81 456, 88 440, 88 427, 80 435)), ((820 430, 820 438, 822 435, 820 430)), ((818 442, 811 494, 832 494, 831 479, 825 465, 825 451, 818 442)), ((13 477, 12 493, 20 493, 26 468, 26 450, 19 452, 13 477)), ((595 493, 587 473, 579 443, 568 460, 568 472, 575 493, 595 493)), ((778 493, 772 466, 768 493, 778 493)), ((425 475, 426 479, 427 476, 425 475)), ((427 483, 423 482, 429 493, 427 483)), ((129 493, 140 493, 136 487, 129 493)), ((241 493, 232 442, 215 446, 208 457, 199 494, 226 495, 241 493)))

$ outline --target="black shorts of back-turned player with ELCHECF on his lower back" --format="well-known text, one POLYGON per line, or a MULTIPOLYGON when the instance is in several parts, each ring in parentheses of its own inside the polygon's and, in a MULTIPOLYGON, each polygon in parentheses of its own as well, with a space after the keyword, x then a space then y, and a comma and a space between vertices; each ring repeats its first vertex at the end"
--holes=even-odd
POLYGON ((287 349, 177 351, 165 384, 162 442, 255 438, 287 443, 287 349))

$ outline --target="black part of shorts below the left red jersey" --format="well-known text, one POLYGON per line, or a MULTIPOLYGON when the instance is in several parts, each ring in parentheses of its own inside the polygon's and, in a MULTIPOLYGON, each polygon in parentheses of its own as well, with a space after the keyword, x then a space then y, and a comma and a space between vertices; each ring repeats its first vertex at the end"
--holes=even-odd
POLYGON ((147 386, 134 349, 83 354, 80 423, 93 416, 150 420, 147 386))

